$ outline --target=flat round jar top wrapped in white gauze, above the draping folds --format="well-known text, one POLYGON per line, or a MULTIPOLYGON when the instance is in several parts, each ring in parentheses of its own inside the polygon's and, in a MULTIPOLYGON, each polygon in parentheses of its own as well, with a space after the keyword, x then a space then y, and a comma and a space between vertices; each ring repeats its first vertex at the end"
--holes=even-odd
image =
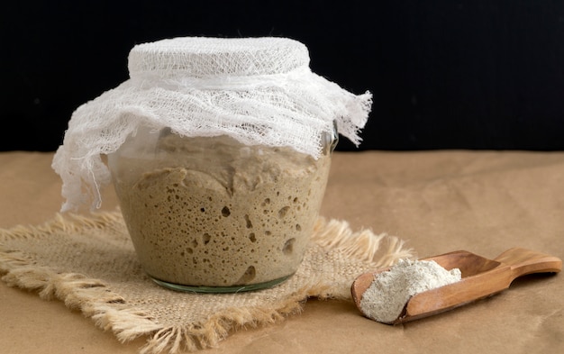
POLYGON ((141 43, 128 58, 130 77, 249 77, 309 66, 299 41, 279 37, 177 37, 141 43))

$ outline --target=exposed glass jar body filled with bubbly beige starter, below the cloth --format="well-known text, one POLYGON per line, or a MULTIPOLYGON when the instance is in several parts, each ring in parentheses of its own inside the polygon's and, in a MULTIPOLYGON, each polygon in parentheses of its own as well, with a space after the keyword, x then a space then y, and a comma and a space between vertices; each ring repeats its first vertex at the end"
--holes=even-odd
POLYGON ((228 293, 295 272, 314 230, 337 132, 317 159, 227 135, 141 127, 108 155, 141 266, 160 286, 228 293))

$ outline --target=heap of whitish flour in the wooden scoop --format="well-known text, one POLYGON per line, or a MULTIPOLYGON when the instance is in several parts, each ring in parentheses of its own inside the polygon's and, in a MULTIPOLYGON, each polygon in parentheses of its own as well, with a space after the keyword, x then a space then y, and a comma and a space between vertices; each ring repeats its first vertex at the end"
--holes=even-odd
POLYGON ((433 260, 400 259, 379 273, 360 300, 360 310, 378 322, 394 322, 409 298, 460 280, 459 268, 446 270, 433 260))

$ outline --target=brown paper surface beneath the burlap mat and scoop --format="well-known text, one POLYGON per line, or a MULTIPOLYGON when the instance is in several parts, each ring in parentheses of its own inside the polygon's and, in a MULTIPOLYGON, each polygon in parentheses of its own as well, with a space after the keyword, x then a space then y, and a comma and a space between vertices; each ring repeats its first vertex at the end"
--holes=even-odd
MULTIPOLYGON (((0 153, 0 227, 59 211, 50 153, 0 153)), ((103 210, 115 207, 111 188, 103 210)), ((421 257, 469 250, 495 258, 523 247, 564 258, 564 152, 335 153, 322 214, 394 234, 421 257)), ((476 304, 388 326, 354 305, 310 299, 285 322, 233 333, 205 353, 564 352, 564 277, 534 275, 476 304)), ((0 282, 5 353, 137 353, 58 301, 0 282)))

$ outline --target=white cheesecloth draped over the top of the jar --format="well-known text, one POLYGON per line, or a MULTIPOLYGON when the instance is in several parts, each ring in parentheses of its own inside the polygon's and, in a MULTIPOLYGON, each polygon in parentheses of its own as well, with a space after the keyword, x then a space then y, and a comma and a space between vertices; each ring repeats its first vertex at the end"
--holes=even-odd
POLYGON ((136 45, 130 78, 82 104, 68 122, 52 168, 66 202, 101 205, 110 183, 101 159, 138 127, 182 136, 229 135, 247 145, 288 146, 320 156, 324 133, 359 144, 372 95, 353 95, 315 75, 304 44, 287 38, 181 37, 136 45))

